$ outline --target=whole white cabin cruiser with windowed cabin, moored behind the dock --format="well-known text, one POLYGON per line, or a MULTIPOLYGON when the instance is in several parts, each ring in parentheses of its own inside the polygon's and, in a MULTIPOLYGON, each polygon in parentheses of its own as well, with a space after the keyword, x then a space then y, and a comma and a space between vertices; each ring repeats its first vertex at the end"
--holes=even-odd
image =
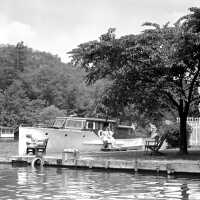
POLYGON ((105 138, 101 134, 105 133, 105 125, 112 132, 106 148, 120 150, 144 147, 144 139, 136 138, 131 126, 117 125, 115 120, 58 117, 52 127, 19 127, 19 154, 26 153, 27 135, 37 139, 48 137, 47 153, 61 153, 64 149, 100 151, 105 147, 105 138))

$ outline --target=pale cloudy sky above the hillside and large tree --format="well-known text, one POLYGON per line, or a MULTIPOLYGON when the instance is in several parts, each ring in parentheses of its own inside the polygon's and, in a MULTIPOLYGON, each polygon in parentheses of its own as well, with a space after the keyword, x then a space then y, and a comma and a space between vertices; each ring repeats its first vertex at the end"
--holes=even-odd
POLYGON ((0 44, 57 54, 98 39, 115 27, 118 37, 139 33, 146 22, 175 22, 200 0, 0 0, 0 44))

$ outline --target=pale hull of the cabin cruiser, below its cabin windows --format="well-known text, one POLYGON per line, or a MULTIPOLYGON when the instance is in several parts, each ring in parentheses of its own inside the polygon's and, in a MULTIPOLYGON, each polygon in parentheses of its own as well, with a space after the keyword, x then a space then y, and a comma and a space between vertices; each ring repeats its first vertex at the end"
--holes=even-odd
MULTIPOLYGON (((19 155, 26 154, 27 135, 43 139, 48 137, 47 154, 61 153, 64 149, 78 149, 80 152, 99 152, 103 148, 102 140, 93 131, 19 127, 19 155)), ((126 149, 143 149, 144 138, 116 139, 115 146, 126 149)))

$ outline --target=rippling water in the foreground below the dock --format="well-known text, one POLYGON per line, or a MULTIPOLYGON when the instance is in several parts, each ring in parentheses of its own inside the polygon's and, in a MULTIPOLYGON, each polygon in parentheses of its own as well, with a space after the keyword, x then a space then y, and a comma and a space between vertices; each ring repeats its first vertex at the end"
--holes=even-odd
POLYGON ((0 165, 0 199, 200 199, 200 177, 0 165))

